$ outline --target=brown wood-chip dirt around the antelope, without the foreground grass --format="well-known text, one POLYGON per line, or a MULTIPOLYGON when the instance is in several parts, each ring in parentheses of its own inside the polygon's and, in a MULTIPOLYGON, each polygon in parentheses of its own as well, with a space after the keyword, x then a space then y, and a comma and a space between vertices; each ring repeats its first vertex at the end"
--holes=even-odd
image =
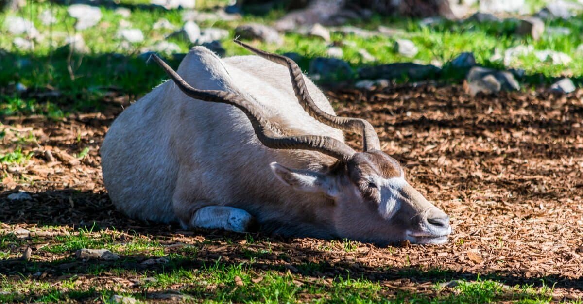
MULTIPOLYGON (((196 257, 178 261, 193 269, 218 257, 226 263, 248 261, 255 252, 256 271, 291 271, 301 274, 304 284, 325 284, 349 271, 353 278, 380 281, 389 294, 399 290, 434 294, 436 280, 490 276, 509 285, 540 287, 543 278, 556 284, 557 300, 583 296, 583 91, 567 97, 537 92, 470 98, 459 86, 427 86, 328 94, 339 115, 371 121, 382 149, 405 165, 409 182, 450 215, 454 232, 446 245, 377 248, 356 243, 353 250, 345 250, 341 242, 274 240, 261 234, 252 235, 256 242, 248 244, 244 235, 186 232, 175 225, 131 220, 110 203, 99 165, 99 145, 121 110, 117 107, 59 122, 43 118, 3 122, 0 128, 6 136, 0 154, 12 149, 17 136, 32 132, 38 141, 22 144, 24 151, 33 151, 26 165, 2 168, 3 232, 46 224, 73 232, 96 221, 100 229, 120 231, 115 236, 120 241, 136 237, 124 236, 135 231, 163 241, 165 252, 197 246, 196 257), (85 147, 86 157, 73 156, 85 147), (47 150, 54 160, 47 157, 47 150), (30 192, 32 199, 11 202, 6 197, 15 190, 30 192), (268 246, 271 253, 264 253, 268 246), (317 280, 322 277, 325 280, 317 280)), ((357 136, 347 138, 359 147, 357 136)), ((147 258, 137 257, 137 264, 128 267, 161 267, 139 264, 147 258)), ((33 252, 31 259, 40 268, 52 267, 45 280, 62 275, 52 264, 62 257, 33 252)), ((84 264, 69 264, 68 271, 83 274, 84 264)), ((30 273, 27 269, 18 261, 0 263, 5 274, 30 273)), ((117 278, 127 284, 130 279, 117 278)))

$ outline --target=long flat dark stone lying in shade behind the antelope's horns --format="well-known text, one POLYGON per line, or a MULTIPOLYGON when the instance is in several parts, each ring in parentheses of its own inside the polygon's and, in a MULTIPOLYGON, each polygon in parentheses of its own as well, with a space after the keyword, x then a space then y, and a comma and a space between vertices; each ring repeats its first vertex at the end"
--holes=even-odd
POLYGON ((440 71, 441 69, 434 65, 398 62, 361 68, 359 69, 359 77, 363 79, 400 79, 407 77, 410 80, 424 80, 436 77, 440 71))

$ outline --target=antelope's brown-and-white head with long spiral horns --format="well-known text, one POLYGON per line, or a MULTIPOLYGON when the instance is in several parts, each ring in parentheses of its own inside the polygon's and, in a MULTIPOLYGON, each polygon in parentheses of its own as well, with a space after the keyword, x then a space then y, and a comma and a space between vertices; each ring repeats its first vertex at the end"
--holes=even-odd
POLYGON ((448 215, 409 185, 399 162, 381 151, 378 135, 369 122, 322 111, 310 97, 303 74, 295 62, 235 42, 265 59, 287 66, 298 102, 305 111, 334 128, 361 133, 364 151, 356 152, 328 136, 279 136, 254 103, 227 91, 194 89, 160 58, 155 55, 153 58, 188 96, 241 109, 266 147, 314 150, 336 158, 338 162, 327 172, 286 168, 276 162, 271 168, 287 185, 328 198, 333 204, 331 216, 338 236, 379 245, 405 240, 419 244, 447 242, 447 236, 451 234, 448 215))

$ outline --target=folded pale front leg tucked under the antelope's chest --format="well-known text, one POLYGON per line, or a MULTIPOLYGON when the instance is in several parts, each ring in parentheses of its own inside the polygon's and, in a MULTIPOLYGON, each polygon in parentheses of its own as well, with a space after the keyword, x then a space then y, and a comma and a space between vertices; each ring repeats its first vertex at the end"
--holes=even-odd
POLYGON ((196 210, 189 227, 225 229, 234 232, 248 232, 254 228, 255 219, 243 209, 226 206, 206 206, 196 210))

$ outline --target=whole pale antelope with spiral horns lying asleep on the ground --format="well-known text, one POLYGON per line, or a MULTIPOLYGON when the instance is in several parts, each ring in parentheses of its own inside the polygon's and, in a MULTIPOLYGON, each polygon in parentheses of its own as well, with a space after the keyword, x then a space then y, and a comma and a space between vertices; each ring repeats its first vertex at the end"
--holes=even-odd
POLYGON ((173 82, 125 109, 101 146, 121 211, 185 229, 447 242, 448 216, 405 181, 369 122, 336 116, 291 59, 235 42, 258 56, 195 47, 178 73, 153 56, 173 82), (342 131, 361 133, 364 152, 342 131))

